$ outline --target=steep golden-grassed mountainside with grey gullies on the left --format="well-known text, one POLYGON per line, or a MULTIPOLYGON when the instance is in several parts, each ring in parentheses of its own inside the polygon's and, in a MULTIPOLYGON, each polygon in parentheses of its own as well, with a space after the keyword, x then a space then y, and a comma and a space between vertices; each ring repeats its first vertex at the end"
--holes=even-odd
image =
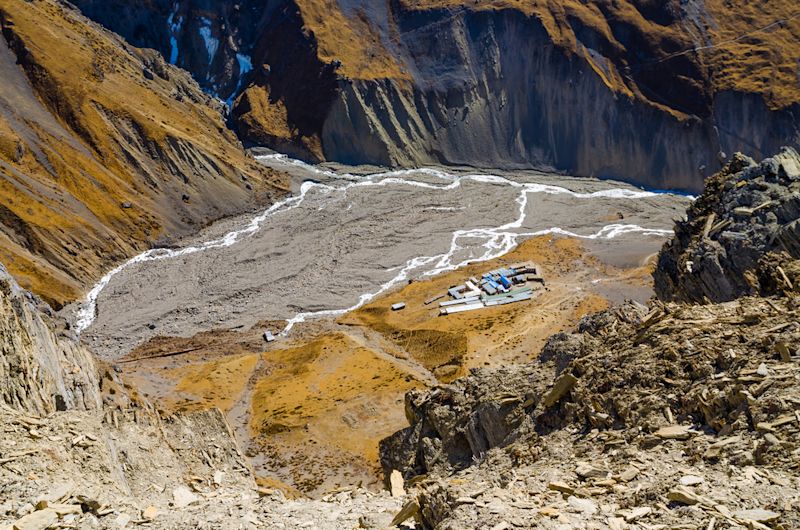
POLYGON ((0 25, 0 260, 54 307, 153 242, 285 189, 156 52, 57 2, 2 0, 0 25))

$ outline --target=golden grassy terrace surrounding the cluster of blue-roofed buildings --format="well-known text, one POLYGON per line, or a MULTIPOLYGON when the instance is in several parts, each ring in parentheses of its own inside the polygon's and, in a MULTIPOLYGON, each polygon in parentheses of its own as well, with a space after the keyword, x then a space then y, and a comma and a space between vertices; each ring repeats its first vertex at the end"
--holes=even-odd
MULTIPOLYGON (((640 259, 652 253, 652 245, 623 246, 640 259)), ((222 409, 265 485, 312 495, 355 483, 379 488, 377 444, 406 424, 408 390, 473 367, 529 361, 548 335, 607 307, 608 293, 649 296, 649 266, 615 267, 601 258, 579 240, 540 236, 501 258, 301 325, 272 344, 260 330, 282 322, 151 339, 119 366, 165 409, 222 409), (464 277, 521 260, 540 263, 547 278, 530 302, 447 317, 424 305, 464 277), (407 307, 392 312, 397 301, 407 307)))

